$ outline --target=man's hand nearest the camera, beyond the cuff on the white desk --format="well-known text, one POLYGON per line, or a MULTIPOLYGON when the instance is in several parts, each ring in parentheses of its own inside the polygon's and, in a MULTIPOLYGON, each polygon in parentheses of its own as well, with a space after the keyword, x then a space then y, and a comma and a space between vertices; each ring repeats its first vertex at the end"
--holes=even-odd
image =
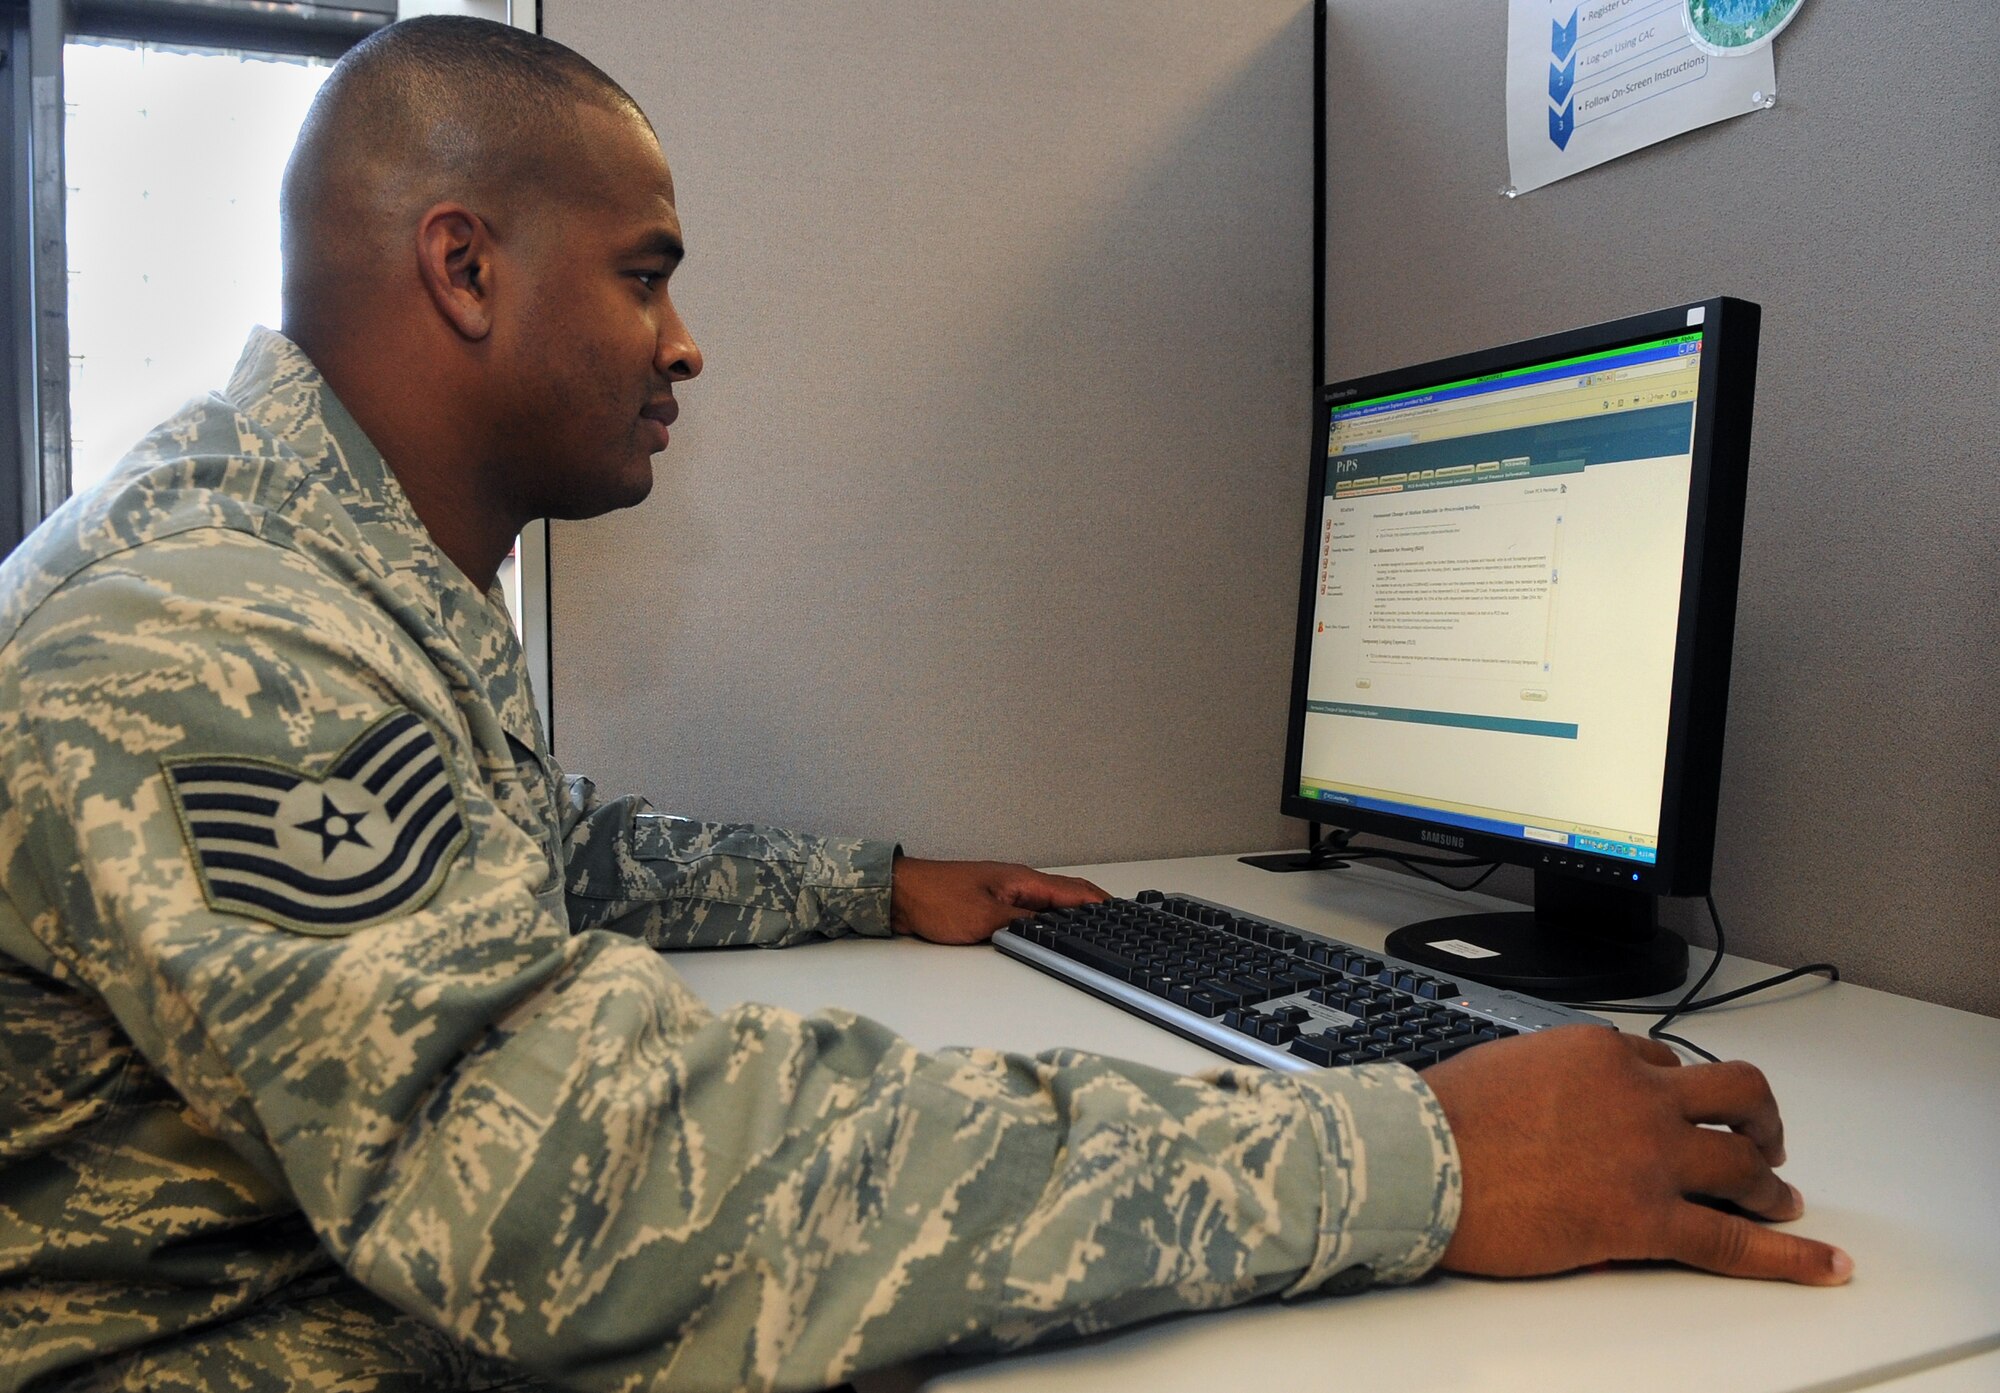
POLYGON ((1784 1125, 1750 1065, 1682 1067, 1658 1041, 1570 1025, 1466 1051, 1424 1081, 1464 1167, 1448 1271, 1534 1277, 1666 1259, 1818 1287, 1854 1271, 1836 1247, 1690 1199, 1776 1221, 1804 1213, 1772 1171, 1784 1125))

